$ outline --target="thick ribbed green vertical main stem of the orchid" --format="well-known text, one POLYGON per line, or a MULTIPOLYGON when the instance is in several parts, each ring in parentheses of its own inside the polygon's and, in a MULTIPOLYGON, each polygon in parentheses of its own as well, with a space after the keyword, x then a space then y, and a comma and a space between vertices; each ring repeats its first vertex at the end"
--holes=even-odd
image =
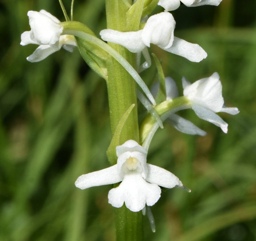
MULTIPOLYGON (((130 4, 132 1, 130 0, 130 4)), ((122 0, 106 0, 107 28, 117 31, 138 31, 138 26, 128 29, 126 13, 129 10, 122 0)), ((109 43, 118 51, 133 67, 135 63, 134 54, 121 45, 109 43)), ((133 139, 139 142, 139 127, 137 117, 136 83, 127 71, 114 59, 107 62, 107 89, 110 110, 110 121, 112 135, 127 109, 135 104, 120 136, 120 144, 126 140, 133 139)), ((115 148, 110 150, 115 156, 115 148)), ((116 160, 109 160, 112 164, 116 160)), ((125 207, 115 209, 116 211, 116 239, 117 240, 142 240, 142 212, 132 212, 125 207)))

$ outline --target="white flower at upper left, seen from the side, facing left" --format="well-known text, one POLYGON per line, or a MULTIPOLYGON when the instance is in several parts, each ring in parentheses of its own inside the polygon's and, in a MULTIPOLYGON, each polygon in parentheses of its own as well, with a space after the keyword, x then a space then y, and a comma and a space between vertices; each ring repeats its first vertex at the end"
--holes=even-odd
POLYGON ((76 46, 73 35, 61 35, 63 27, 59 19, 41 10, 40 12, 28 11, 31 31, 25 31, 21 35, 21 45, 38 44, 39 47, 27 57, 30 62, 38 62, 63 47, 72 52, 76 46))

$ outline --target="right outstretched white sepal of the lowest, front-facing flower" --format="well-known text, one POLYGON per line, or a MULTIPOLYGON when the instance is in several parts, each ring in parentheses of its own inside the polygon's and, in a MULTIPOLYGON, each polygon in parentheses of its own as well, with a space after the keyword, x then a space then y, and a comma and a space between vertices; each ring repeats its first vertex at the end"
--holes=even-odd
POLYGON ((182 182, 178 179, 177 176, 171 172, 155 165, 147 164, 148 175, 146 181, 149 183, 157 184, 161 187, 173 188, 175 186, 182 187, 182 182))

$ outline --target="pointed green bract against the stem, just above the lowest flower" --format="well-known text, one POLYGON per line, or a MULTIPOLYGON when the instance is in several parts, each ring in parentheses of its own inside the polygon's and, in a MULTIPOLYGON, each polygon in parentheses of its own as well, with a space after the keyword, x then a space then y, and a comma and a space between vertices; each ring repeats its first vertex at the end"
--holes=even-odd
POLYGON ((111 165, 116 164, 117 157, 115 155, 115 147, 120 145, 119 140, 120 140, 120 135, 121 135, 123 126, 124 126, 127 118, 129 117, 130 113, 132 112, 134 106, 135 106, 135 104, 131 104, 131 106, 127 109, 127 111, 121 117, 121 119, 114 131, 114 135, 112 137, 110 145, 107 148, 107 157, 108 157, 108 161, 110 162, 111 165))

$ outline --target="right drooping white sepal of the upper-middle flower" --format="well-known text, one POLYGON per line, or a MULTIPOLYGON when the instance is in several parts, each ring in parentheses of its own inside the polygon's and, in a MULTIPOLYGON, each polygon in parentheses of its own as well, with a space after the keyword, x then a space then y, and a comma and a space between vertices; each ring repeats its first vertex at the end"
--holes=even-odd
MULTIPOLYGON (((159 46, 160 47, 160 46, 159 46)), ((162 48, 162 47, 160 47, 162 48)), ((192 62, 200 62, 207 57, 207 53, 198 44, 189 43, 183 39, 174 37, 172 46, 168 49, 162 48, 170 53, 177 54, 192 62)))

